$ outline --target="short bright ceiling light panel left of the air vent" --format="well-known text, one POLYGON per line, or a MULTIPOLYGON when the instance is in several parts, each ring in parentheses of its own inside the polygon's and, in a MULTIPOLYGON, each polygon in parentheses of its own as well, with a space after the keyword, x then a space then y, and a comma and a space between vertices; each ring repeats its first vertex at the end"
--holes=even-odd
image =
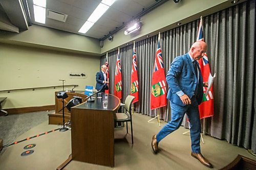
POLYGON ((33 8, 35 21, 46 23, 46 0, 33 0, 33 8))

